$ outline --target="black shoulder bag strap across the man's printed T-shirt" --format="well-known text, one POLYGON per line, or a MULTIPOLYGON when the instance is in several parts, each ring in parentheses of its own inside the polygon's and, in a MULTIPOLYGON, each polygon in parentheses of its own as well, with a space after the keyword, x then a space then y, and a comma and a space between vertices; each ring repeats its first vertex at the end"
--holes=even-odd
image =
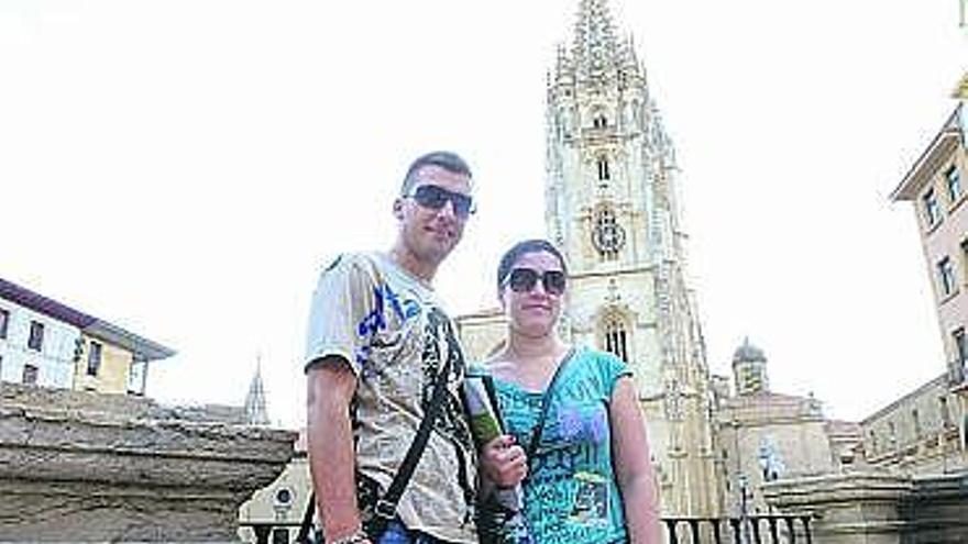
MULTIPOLYGON (((372 521, 370 528, 377 534, 382 534, 384 530, 386 530, 387 523, 393 521, 396 517, 397 503, 399 503, 400 497, 403 497, 404 490, 410 481, 410 477, 414 476, 417 463, 420 462, 420 456, 427 447, 427 441, 430 440, 430 432, 433 430, 433 423, 440 414, 440 410, 443 406, 443 395, 447 391, 447 379, 450 376, 450 363, 451 358, 448 357, 443 370, 437 376, 437 382, 433 384, 433 393, 430 397, 430 409, 424 413, 424 419, 420 420, 420 426, 417 429, 414 442, 410 443, 410 447, 404 456, 404 462, 400 464, 400 468, 394 476, 389 488, 387 488, 386 493, 376 501, 376 506, 373 509, 375 519, 372 521)), ((306 513, 302 514, 302 524, 299 526, 296 542, 309 542, 309 529, 312 525, 315 510, 316 493, 314 492, 309 496, 309 504, 306 506, 306 513)))

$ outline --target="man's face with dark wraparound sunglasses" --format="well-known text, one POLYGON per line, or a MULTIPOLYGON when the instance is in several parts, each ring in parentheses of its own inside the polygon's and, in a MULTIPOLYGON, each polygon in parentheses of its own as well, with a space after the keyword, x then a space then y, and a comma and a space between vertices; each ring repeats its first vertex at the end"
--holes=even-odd
POLYGON ((468 221, 462 197, 471 197, 468 176, 436 165, 417 170, 417 182, 397 202, 400 235, 416 258, 436 266, 457 246, 468 221))

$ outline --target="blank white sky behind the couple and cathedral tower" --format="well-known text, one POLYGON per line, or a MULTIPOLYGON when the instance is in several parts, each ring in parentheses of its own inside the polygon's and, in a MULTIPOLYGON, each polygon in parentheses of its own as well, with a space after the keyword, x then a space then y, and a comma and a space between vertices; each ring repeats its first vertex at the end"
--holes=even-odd
MULTIPOLYGON (((165 401, 302 418, 318 267, 386 248, 417 154, 453 148, 480 212, 442 267, 493 303, 543 234, 543 99, 578 0, 0 3, 0 277, 178 349, 165 401)), ((682 174, 710 363, 745 335, 774 390, 860 419, 944 369, 890 191, 968 67, 957 0, 612 0, 682 174)))

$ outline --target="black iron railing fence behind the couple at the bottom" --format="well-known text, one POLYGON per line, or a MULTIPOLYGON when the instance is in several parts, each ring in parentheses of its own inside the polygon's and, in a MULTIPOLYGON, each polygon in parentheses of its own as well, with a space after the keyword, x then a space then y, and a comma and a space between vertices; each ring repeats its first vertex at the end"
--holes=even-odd
MULTIPOLYGON (((669 544, 813 544, 810 515, 740 518, 662 518, 669 544)), ((289 544, 299 532, 295 522, 245 522, 255 544, 289 544)))

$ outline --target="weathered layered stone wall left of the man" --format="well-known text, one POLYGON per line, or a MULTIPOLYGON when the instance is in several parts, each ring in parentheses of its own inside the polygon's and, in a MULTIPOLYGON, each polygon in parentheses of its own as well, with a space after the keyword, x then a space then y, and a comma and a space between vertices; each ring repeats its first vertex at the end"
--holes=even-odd
POLYGON ((0 387, 4 541, 238 542, 296 433, 129 396, 0 387))

